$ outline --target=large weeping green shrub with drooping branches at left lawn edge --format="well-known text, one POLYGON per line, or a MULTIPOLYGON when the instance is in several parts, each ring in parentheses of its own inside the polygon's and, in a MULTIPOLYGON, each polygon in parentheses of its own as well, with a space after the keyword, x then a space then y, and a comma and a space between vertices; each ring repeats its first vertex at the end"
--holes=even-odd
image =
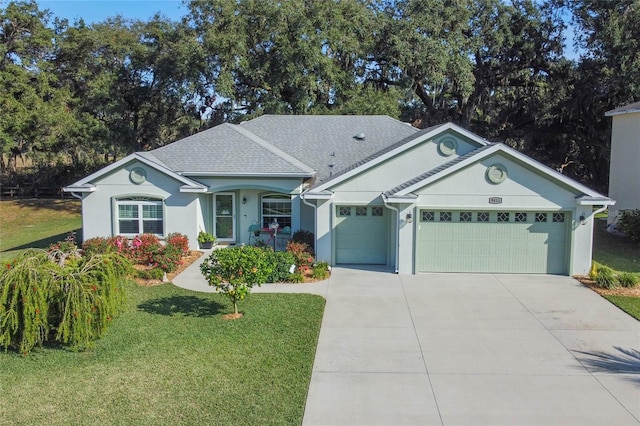
POLYGON ((24 354, 47 341, 89 347, 124 309, 131 271, 117 253, 59 266, 44 251, 24 252, 0 273, 0 345, 24 354))

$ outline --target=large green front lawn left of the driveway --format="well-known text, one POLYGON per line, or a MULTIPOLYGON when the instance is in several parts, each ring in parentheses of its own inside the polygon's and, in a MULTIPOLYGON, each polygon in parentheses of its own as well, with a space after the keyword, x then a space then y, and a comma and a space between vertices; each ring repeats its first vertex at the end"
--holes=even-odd
POLYGON ((94 349, 0 353, 0 424, 300 424, 324 299, 127 285, 94 349))

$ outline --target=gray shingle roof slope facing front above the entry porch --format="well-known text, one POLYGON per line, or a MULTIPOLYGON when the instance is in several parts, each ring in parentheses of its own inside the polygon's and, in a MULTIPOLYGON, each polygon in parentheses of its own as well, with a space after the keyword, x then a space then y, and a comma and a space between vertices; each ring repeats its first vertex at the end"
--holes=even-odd
POLYGON ((304 163, 233 124, 221 124, 150 153, 183 174, 313 174, 304 163))

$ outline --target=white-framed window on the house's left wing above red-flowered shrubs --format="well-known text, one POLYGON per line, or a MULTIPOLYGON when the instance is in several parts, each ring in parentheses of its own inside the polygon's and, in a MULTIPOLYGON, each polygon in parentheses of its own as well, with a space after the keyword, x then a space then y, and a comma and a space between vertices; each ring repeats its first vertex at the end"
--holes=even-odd
POLYGON ((164 234, 164 212, 161 200, 146 197, 116 200, 117 234, 164 234))

